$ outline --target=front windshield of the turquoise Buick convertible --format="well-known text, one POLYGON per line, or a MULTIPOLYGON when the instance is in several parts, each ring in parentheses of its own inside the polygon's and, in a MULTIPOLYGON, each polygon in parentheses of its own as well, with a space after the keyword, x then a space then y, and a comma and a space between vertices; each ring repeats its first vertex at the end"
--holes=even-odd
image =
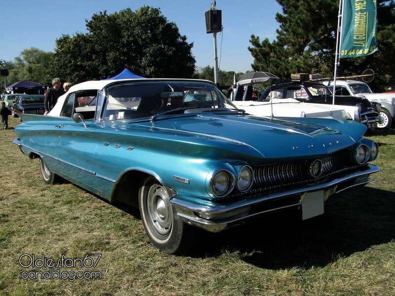
POLYGON ((103 121, 166 115, 185 109, 237 109, 215 85, 204 81, 127 81, 109 86, 106 93, 103 121))

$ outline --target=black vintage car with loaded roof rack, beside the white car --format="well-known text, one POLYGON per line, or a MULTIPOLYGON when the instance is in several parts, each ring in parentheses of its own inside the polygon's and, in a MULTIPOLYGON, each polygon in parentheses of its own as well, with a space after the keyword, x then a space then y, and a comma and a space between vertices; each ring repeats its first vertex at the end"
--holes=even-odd
MULTIPOLYGON (((326 85, 320 82, 285 82, 268 87, 260 96, 259 100, 270 101, 271 98, 292 98, 300 102, 333 104, 333 95, 326 85)), ((357 106, 360 122, 366 124, 368 128, 377 127, 383 122, 380 116, 381 105, 370 103, 367 99, 353 96, 335 96, 335 105, 357 106)), ((350 114, 353 116, 354 114, 350 114)))

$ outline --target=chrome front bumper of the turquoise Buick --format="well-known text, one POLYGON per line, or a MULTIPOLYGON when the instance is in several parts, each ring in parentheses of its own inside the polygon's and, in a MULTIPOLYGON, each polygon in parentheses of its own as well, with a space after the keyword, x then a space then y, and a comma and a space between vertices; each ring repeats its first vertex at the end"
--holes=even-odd
POLYGON ((270 193, 234 203, 207 202, 206 204, 197 204, 177 195, 170 202, 174 206, 178 217, 183 221, 207 231, 219 232, 229 226, 240 224, 243 220, 252 216, 301 206, 304 197, 310 192, 323 191, 323 200, 326 200, 334 193, 366 185, 371 182, 369 175, 379 170, 377 166, 369 164, 356 172, 326 183, 270 193))

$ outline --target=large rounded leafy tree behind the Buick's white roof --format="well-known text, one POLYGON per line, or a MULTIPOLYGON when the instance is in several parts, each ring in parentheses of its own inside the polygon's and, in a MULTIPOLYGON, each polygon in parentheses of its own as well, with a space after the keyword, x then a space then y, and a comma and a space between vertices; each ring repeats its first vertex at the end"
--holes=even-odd
POLYGON ((128 68, 144 77, 192 77, 193 43, 158 8, 143 6, 94 14, 87 34, 56 40, 51 70, 73 83, 113 76, 128 68))

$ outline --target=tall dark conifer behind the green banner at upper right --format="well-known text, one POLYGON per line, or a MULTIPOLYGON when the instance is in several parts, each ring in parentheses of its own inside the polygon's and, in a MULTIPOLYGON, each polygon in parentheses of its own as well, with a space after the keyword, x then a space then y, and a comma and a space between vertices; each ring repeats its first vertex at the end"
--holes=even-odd
MULTIPOLYGON (((338 0, 277 0, 282 14, 276 14, 280 23, 276 40, 263 41, 251 36, 248 47, 254 57, 255 71, 268 71, 289 79, 291 73, 324 74, 334 72, 338 0)), ((365 69, 378 73, 372 81, 377 90, 394 84, 395 62, 394 0, 377 1, 377 39, 379 52, 372 55, 341 59, 339 75, 361 74, 365 69)))

